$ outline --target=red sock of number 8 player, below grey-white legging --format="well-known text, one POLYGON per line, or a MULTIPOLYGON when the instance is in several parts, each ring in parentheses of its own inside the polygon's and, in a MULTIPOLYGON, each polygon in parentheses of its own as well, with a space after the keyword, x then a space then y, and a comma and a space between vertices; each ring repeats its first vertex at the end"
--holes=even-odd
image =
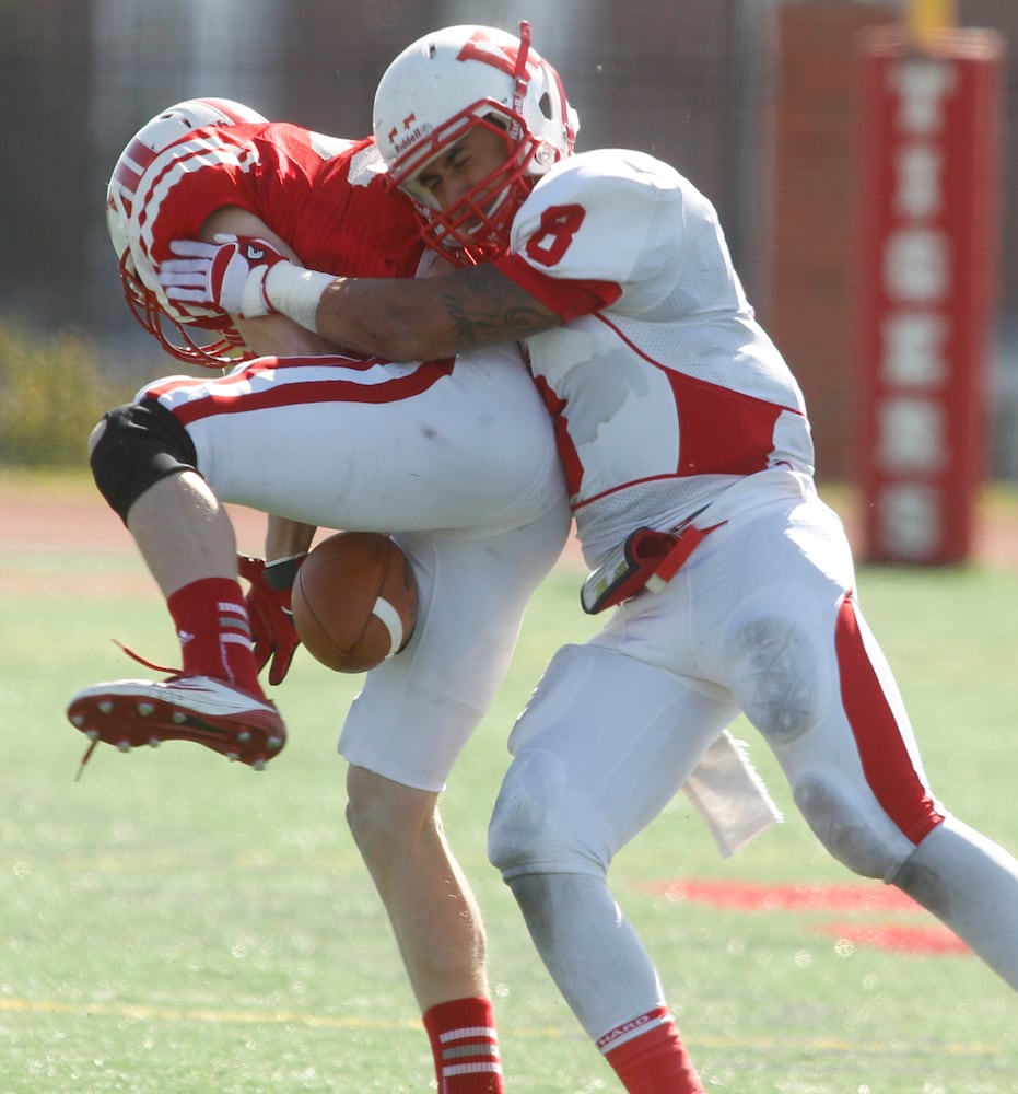
POLYGON ((609 1031, 597 1047, 630 1094, 703 1094, 675 1019, 664 1006, 609 1031), (642 1027, 644 1033, 632 1036, 642 1027))

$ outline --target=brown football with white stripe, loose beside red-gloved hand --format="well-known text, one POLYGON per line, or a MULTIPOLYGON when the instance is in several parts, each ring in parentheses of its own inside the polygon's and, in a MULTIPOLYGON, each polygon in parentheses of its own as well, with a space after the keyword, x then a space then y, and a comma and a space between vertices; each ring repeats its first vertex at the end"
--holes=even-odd
POLYGON ((364 673, 398 653, 417 622, 413 568, 388 536, 338 532, 304 560, 293 585, 301 641, 338 673, 364 673))

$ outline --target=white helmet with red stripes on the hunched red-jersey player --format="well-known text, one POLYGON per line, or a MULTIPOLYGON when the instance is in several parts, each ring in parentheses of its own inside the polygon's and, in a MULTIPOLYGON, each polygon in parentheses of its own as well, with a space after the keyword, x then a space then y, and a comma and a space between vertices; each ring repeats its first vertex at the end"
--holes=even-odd
POLYGON ((172 304, 163 293, 142 233, 143 224, 151 233, 157 212, 145 208, 147 201, 154 200, 147 172, 160 153, 195 129, 266 120, 227 98, 176 103, 134 135, 120 153, 106 188, 106 228, 117 253, 128 307, 167 352, 188 364, 222 368, 253 354, 244 350, 244 339, 225 313, 187 310, 172 304))

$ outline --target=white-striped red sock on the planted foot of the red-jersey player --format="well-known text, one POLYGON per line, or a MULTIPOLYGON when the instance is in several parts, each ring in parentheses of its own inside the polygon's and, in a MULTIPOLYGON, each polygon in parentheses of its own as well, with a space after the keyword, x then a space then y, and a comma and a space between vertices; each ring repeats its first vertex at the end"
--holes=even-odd
POLYGON ((452 999, 424 1012, 438 1094, 505 1094, 491 1002, 452 999))

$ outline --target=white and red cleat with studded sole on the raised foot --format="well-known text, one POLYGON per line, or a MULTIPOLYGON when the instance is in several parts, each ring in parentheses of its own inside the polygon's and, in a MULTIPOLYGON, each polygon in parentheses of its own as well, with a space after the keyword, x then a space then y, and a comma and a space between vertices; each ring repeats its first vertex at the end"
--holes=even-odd
POLYGON ((130 752, 194 741, 260 771, 286 743, 274 703, 211 676, 96 684, 72 696, 67 717, 91 742, 82 767, 100 742, 130 752))

